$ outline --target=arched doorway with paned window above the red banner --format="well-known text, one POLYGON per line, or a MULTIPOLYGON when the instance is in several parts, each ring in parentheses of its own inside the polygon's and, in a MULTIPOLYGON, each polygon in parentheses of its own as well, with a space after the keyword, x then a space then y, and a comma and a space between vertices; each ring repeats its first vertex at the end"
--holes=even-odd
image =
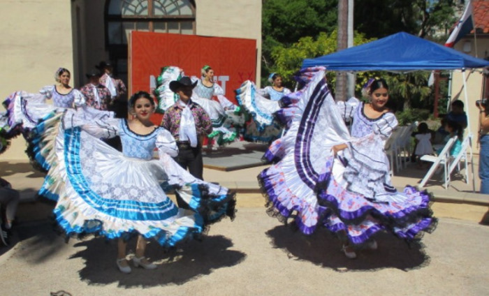
POLYGON ((105 2, 105 48, 114 69, 127 81, 130 31, 195 34, 194 0, 108 0, 105 2))

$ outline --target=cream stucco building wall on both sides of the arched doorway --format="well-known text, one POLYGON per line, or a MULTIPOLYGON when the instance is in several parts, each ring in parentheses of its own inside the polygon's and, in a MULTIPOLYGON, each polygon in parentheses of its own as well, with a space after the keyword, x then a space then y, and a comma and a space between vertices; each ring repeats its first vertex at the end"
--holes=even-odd
MULTIPOLYGON (((13 91, 37 92, 54 84, 59 67, 71 71, 71 85, 109 57, 103 0, 3 0, 0 10, 0 100, 13 91)), ((256 81, 261 73, 261 1, 198 0, 195 33, 256 40, 256 81)), ((3 111, 3 106, 0 107, 3 111)), ((22 136, 0 157, 27 159, 22 136)))

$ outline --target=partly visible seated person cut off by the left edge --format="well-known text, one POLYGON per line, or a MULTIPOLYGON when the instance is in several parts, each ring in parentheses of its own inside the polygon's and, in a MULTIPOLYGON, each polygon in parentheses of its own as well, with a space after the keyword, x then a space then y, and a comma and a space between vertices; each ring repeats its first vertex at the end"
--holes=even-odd
POLYGON ((12 224, 19 205, 20 194, 12 188, 10 183, 0 177, 0 205, 1 205, 1 226, 0 226, 0 242, 5 246, 10 244, 10 236, 12 235, 12 224))

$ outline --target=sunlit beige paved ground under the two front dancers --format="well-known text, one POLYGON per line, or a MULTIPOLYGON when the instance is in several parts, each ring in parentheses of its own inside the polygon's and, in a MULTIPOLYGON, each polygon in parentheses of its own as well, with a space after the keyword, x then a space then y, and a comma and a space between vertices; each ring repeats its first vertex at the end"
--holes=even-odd
MULTIPOLYGON (((235 221, 221 221, 203 242, 187 242, 173 251, 150 243, 147 255, 159 268, 126 275, 115 267, 115 243, 90 237, 66 244, 53 231, 53 205, 34 200, 42 174, 25 161, 0 161, 0 175, 26 201, 18 211, 13 246, 0 247, 0 279, 7 279, 0 294, 489 295, 489 226, 480 223, 489 222, 488 195, 470 193, 460 180, 448 190, 429 184, 428 190, 444 202, 433 205, 439 225, 423 244, 409 248, 381 234, 377 251, 359 251, 356 260, 348 260, 328 233, 301 235, 265 214, 256 175, 266 167, 205 169, 208 181, 238 190, 235 221)), ((393 183, 416 184, 419 173, 408 168, 393 183)))

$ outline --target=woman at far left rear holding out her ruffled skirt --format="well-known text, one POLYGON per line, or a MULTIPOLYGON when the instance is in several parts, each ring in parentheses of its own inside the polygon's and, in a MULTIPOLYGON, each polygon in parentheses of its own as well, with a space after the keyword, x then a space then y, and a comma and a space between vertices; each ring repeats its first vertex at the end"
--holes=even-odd
MULTIPOLYGON (((48 138, 55 137, 57 128, 52 124, 40 125, 41 121, 59 121, 61 113, 68 108, 86 108, 85 96, 73 89, 69 85, 71 73, 66 68, 58 68, 54 73, 54 79, 57 84, 43 87, 38 94, 29 94, 26 91, 15 91, 10 94, 3 102, 7 112, 4 116, 8 123, 8 136, 14 137, 22 133, 27 140, 27 155, 31 159, 31 164, 39 170, 48 170, 48 162, 45 157, 48 157, 48 152, 52 147, 43 145, 48 142, 48 138), (49 104, 46 101, 52 99, 53 103, 49 104), (47 133, 46 128, 51 126, 47 133), (35 142, 32 139, 35 134, 43 134, 41 142, 35 142)), ((98 112, 92 110, 85 112, 86 116, 98 116, 98 112)))

